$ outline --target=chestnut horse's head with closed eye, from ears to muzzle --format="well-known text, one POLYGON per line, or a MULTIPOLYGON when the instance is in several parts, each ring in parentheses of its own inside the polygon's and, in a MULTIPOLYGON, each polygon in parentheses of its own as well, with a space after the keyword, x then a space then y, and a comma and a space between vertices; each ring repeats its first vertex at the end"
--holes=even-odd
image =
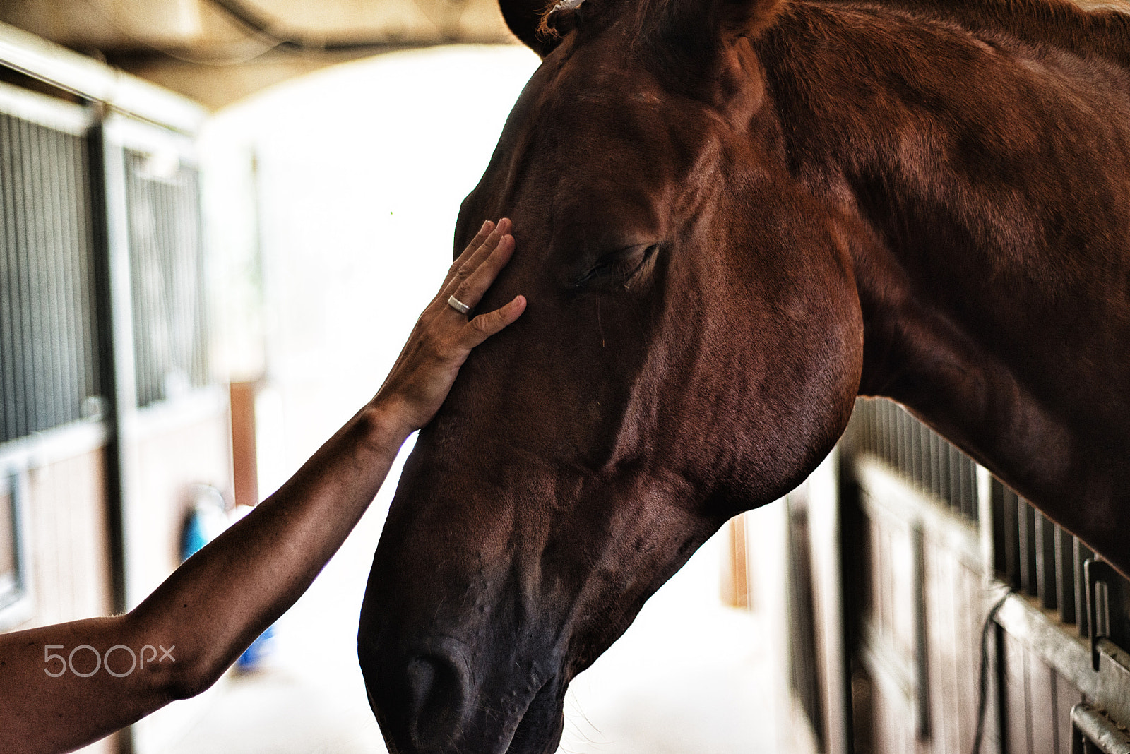
MULTIPOLYGON (((834 214, 793 181, 747 37, 775 0, 563 3, 455 246, 518 251, 419 435, 358 650, 390 751, 547 753, 568 682, 734 514, 843 431, 862 324, 834 214)), ((547 36, 548 34, 548 36, 547 36)))

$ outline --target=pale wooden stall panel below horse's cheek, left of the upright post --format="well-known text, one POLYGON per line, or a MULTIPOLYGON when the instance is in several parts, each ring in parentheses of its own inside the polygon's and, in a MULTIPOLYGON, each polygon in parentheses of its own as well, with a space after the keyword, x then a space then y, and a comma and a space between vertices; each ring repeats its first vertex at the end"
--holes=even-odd
POLYGON ((858 651, 878 709, 901 709, 876 713, 876 737, 911 740, 919 752, 967 752, 986 611, 976 529, 887 471, 872 466, 866 481, 858 651))

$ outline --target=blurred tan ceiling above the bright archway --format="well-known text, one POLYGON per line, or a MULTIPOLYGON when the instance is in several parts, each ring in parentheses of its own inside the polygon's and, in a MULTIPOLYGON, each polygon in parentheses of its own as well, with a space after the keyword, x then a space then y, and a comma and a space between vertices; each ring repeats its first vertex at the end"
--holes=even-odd
POLYGON ((212 108, 384 51, 514 41, 497 0, 5 0, 0 21, 212 108))

